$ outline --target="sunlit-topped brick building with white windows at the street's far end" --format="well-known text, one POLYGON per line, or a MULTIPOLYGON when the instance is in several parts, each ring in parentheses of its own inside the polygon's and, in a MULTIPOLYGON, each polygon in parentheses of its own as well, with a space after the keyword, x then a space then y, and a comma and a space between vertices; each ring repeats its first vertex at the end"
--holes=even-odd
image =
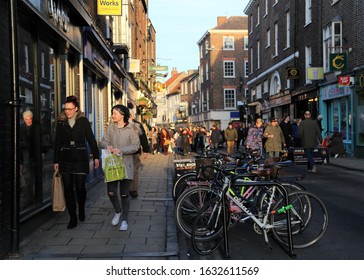
POLYGON ((199 40, 200 94, 191 104, 193 125, 225 129, 240 120, 238 106, 246 101, 247 39, 248 17, 234 16, 218 17, 217 25, 199 40))

